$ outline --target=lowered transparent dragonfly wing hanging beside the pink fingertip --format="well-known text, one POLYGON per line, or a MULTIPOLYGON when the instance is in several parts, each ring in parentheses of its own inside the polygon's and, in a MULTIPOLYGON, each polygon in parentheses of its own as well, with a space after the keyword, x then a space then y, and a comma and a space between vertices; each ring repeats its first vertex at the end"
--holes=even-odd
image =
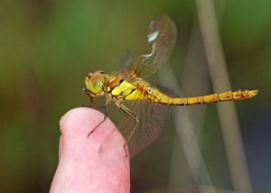
MULTIPOLYGON (((126 105, 126 102, 124 103, 126 105)), ((162 132, 164 124, 170 117, 170 107, 161 104, 151 104, 144 100, 134 101, 129 107, 130 111, 138 116, 138 124, 135 133, 128 142, 130 157, 135 156, 162 132)), ((125 139, 132 132, 135 120, 129 115, 117 126, 125 139)))

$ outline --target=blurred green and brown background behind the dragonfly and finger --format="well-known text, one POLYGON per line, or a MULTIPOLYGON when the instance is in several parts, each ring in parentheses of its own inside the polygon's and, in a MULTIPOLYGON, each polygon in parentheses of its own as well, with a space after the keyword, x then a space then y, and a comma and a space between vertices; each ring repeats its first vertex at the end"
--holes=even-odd
MULTIPOLYGON (((253 191, 269 192, 271 1, 219 1, 215 8, 232 89, 260 91, 236 106, 253 191)), ((198 45, 190 41, 197 25, 194 1, 1 0, 0 192, 49 191, 58 164, 61 115, 89 105, 81 91, 84 76, 97 69, 116 71, 127 49, 134 60, 146 53, 147 26, 159 14, 170 15, 178 29, 170 65, 182 85, 184 76, 196 78, 184 70, 189 47, 198 45)), ((211 87, 204 68, 203 81, 211 87)), ((161 69, 159 75, 163 73, 161 69)), ((192 97, 213 91, 207 88, 199 93, 199 87, 187 91, 181 87, 182 94, 192 97)), ((200 144, 212 186, 233 189, 216 105, 204 108, 200 144)), ((153 145, 131 161, 132 192, 172 184, 179 188, 199 185, 182 145, 177 162, 180 172, 177 178, 171 177, 176 132, 173 125, 166 127, 153 145)))

